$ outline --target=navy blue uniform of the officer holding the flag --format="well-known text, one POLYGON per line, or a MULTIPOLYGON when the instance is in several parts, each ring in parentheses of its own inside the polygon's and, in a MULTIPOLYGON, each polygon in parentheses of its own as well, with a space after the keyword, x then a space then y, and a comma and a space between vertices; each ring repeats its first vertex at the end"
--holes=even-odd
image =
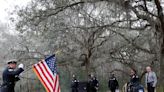
POLYGON ((14 70, 12 68, 7 67, 3 71, 3 84, 1 86, 1 91, 0 92, 15 92, 14 87, 15 83, 20 80, 19 79, 19 74, 22 73, 24 70, 22 68, 19 68, 17 70, 14 70))

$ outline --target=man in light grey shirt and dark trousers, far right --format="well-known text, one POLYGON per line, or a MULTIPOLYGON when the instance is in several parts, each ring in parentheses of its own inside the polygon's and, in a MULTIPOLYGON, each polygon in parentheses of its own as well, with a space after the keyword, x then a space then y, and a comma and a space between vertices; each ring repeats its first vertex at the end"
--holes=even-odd
POLYGON ((146 67, 146 76, 145 76, 145 83, 148 92, 155 92, 155 87, 157 84, 157 76, 155 72, 152 71, 150 66, 146 67))

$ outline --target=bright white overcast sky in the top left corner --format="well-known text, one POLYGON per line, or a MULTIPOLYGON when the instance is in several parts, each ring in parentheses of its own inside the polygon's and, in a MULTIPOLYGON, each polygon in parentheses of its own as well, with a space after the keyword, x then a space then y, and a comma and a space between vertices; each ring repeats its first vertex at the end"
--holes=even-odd
POLYGON ((13 24, 9 18, 10 14, 15 6, 23 7, 26 6, 31 0, 0 0, 0 23, 4 23, 8 26, 9 33, 16 35, 18 32, 15 31, 15 24, 13 24))

